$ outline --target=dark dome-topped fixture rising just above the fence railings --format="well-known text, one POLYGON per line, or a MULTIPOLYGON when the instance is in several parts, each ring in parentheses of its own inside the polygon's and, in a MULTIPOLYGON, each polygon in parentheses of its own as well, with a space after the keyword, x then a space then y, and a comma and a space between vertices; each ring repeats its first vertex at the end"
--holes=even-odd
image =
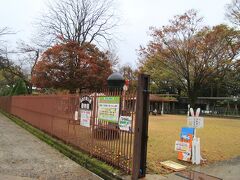
POLYGON ((123 90, 125 79, 120 73, 114 72, 108 77, 107 82, 110 91, 123 90))

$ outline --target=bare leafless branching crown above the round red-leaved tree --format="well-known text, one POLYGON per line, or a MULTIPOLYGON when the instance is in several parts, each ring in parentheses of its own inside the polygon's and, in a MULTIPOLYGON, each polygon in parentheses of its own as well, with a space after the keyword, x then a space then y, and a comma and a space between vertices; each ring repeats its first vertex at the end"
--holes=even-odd
POLYGON ((40 37, 47 43, 74 41, 109 43, 117 25, 112 0, 58 0, 39 20, 40 37))

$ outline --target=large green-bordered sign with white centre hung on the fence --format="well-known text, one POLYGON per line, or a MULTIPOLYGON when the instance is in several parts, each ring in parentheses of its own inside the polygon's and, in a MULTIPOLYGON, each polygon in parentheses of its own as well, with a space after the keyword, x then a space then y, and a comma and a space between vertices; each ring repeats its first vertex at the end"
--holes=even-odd
POLYGON ((119 96, 106 96, 98 98, 98 119, 117 123, 119 117, 119 96))

